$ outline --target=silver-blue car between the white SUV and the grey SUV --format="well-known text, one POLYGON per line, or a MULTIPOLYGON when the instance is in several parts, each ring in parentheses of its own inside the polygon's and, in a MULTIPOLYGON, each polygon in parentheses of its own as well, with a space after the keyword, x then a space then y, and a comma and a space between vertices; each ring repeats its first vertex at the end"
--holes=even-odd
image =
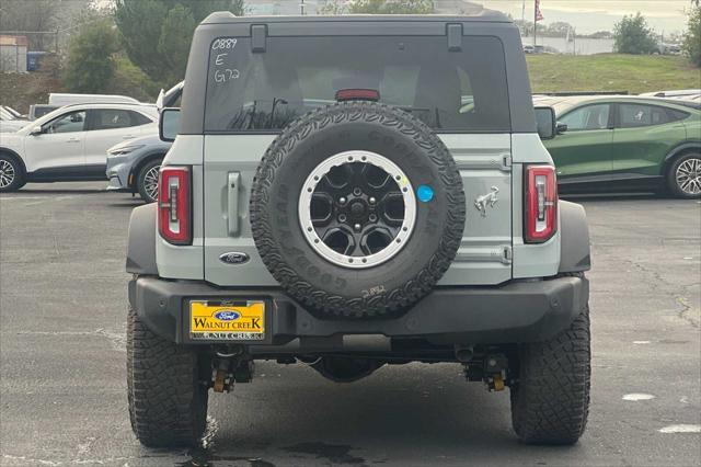
POLYGON ((147 203, 158 196, 158 172, 171 143, 158 133, 119 143, 107 149, 108 191, 139 193, 147 203))

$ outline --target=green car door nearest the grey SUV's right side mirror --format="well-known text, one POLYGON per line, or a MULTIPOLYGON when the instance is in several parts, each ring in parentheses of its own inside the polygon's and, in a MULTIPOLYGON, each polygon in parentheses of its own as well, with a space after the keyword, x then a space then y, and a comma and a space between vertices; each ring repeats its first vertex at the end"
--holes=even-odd
POLYGON ((547 140, 561 184, 606 181, 612 170, 611 104, 594 103, 558 116, 567 130, 547 140))

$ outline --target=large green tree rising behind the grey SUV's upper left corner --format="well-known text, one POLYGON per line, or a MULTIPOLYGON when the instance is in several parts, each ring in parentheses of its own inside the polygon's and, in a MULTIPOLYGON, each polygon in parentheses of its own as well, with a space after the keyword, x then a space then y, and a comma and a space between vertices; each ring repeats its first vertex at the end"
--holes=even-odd
POLYGON ((170 87, 184 78, 195 26, 212 11, 243 15, 243 0, 116 0, 114 18, 131 62, 170 87))

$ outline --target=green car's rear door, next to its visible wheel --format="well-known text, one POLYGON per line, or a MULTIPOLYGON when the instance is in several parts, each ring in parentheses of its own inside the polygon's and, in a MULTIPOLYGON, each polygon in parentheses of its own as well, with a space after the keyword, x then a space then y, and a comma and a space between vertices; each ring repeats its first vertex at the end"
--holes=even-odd
POLYGON ((613 178, 660 175, 665 156, 687 137, 681 118, 688 114, 635 102, 618 103, 616 110, 613 178))

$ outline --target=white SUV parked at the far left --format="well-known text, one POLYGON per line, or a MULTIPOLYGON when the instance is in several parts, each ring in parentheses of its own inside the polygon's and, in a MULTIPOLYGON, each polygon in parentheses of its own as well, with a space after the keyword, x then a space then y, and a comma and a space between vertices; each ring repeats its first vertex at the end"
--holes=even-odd
POLYGON ((0 134, 0 192, 26 182, 105 180, 106 150, 158 132, 149 104, 76 104, 0 134))

